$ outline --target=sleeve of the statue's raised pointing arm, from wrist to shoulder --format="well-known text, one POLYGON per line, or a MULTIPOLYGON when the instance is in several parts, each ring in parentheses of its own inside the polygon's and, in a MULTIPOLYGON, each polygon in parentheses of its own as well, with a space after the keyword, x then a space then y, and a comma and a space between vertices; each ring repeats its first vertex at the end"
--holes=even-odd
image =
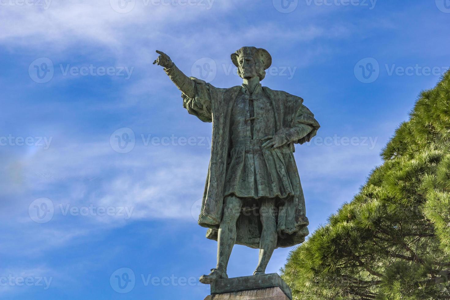
POLYGON ((181 90, 183 107, 189 114, 198 117, 203 122, 212 122, 211 92, 212 85, 195 77, 188 77, 178 67, 165 69, 171 81, 181 90))

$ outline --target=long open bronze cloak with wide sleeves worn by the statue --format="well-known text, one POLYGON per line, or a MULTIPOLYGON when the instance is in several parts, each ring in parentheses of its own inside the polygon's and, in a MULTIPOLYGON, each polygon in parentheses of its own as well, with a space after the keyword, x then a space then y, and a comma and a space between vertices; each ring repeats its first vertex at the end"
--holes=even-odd
MULTIPOLYGON (((204 122, 212 122, 211 160, 209 163, 202 208, 198 217, 198 224, 209 228, 207 238, 217 240, 217 232, 223 214, 224 184, 229 153, 230 114, 233 103, 242 86, 228 89, 216 88, 205 81, 191 77, 194 81, 195 96, 189 98, 182 94, 184 108, 189 114, 197 116, 204 122)), ((275 111, 276 132, 283 132, 293 127, 294 122, 301 122, 312 127, 311 132, 293 143, 309 142, 320 128, 311 111, 303 105, 303 99, 284 91, 271 90, 263 87, 270 98, 275 111)), ((294 152, 293 143, 276 148, 275 152, 294 152)), ((298 171, 296 176, 298 177, 298 171)), ((300 184, 300 180, 298 180, 300 184)), ((279 201, 277 205, 277 247, 289 247, 304 242, 309 234, 308 219, 306 218, 305 198, 301 186, 298 194, 279 201)), ((250 201, 246 206, 257 205, 257 201, 250 201)), ((261 237, 261 221, 253 214, 242 214, 238 219, 236 244, 259 248, 261 237)))

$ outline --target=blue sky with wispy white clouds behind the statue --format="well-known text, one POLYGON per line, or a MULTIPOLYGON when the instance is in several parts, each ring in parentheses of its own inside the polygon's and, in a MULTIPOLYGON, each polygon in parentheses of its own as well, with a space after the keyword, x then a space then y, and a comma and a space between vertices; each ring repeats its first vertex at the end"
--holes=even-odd
MULTIPOLYGON (((295 152, 311 232, 351 201, 450 65, 449 0, 0 4, 0 299, 209 294, 198 277, 216 242, 196 214, 211 124, 183 109, 156 49, 217 87, 242 83, 235 50, 270 52, 262 84, 304 98, 322 126, 295 152)), ((236 246, 229 276, 256 264, 257 250, 236 246)))

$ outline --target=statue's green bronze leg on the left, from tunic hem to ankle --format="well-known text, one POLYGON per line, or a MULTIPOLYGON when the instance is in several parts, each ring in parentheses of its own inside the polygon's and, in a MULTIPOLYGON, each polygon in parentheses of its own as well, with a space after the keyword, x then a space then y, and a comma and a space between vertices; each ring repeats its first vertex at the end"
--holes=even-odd
POLYGON ((224 213, 217 237, 217 267, 226 273, 229 257, 236 242, 236 223, 242 209, 242 199, 229 195, 224 199, 224 213))

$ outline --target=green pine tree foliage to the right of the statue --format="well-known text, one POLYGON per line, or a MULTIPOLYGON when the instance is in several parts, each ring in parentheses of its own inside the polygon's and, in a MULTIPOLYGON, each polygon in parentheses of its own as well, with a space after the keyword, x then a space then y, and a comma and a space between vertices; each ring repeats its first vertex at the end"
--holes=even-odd
POLYGON ((450 72, 424 91, 353 201, 290 253, 295 300, 450 299, 450 72))

